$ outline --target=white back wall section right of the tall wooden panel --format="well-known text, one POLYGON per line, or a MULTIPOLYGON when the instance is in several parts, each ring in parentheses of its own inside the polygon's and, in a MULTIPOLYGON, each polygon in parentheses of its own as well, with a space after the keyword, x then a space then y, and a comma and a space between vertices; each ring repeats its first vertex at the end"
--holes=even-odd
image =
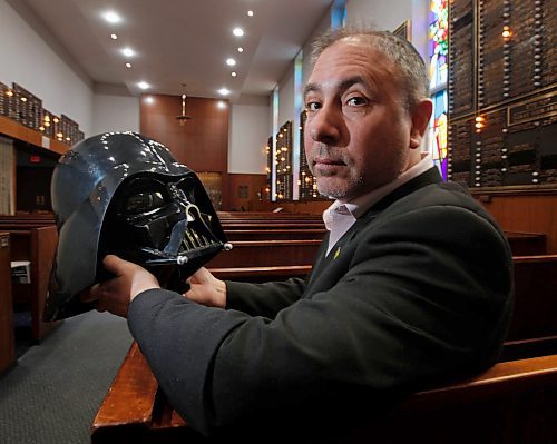
POLYGON ((265 147, 271 136, 267 98, 243 100, 231 109, 228 172, 264 175, 265 147))

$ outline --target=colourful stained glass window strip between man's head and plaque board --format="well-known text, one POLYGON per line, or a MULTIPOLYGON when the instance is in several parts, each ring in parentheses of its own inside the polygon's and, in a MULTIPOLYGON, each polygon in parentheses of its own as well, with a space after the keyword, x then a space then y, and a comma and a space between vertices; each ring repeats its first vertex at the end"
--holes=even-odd
POLYGON ((430 124, 430 151, 443 179, 447 179, 447 75, 449 49, 448 0, 431 0, 429 11, 429 71, 433 100, 430 124))

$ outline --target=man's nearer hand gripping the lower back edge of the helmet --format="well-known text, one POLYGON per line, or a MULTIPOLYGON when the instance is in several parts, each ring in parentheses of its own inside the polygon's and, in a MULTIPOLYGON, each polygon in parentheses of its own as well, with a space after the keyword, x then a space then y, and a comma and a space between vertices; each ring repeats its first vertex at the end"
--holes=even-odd
POLYGON ((160 288, 158 280, 139 265, 108 255, 102 260, 105 268, 115 278, 96 284, 87 294, 87 299, 98 299, 97 309, 127 317, 129 303, 141 292, 160 288))

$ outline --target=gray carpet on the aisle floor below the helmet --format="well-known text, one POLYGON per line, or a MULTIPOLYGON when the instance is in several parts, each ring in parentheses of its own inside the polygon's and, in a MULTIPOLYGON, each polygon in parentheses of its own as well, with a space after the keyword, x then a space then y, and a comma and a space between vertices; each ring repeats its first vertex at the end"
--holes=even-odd
POLYGON ((86 444, 129 346, 126 320, 89 312, 66 319, 0 378, 0 443, 86 444))

